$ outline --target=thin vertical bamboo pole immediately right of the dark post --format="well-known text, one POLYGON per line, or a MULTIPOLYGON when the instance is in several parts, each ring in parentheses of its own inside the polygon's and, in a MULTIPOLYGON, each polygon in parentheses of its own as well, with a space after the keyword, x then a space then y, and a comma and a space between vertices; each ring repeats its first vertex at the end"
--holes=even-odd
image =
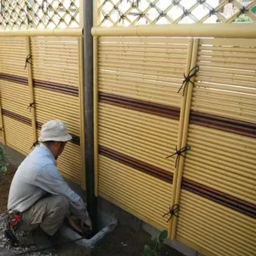
POLYGON ((95 170, 95 195, 98 196, 99 182, 99 145, 98 145, 98 38, 93 38, 93 104, 94 104, 94 170, 95 170))

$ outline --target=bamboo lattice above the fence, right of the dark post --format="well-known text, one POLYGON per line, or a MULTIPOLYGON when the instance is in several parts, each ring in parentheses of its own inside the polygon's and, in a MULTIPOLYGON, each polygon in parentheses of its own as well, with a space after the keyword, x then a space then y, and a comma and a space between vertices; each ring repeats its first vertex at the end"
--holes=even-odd
POLYGON ((98 0, 98 26, 255 22, 250 0, 98 0))

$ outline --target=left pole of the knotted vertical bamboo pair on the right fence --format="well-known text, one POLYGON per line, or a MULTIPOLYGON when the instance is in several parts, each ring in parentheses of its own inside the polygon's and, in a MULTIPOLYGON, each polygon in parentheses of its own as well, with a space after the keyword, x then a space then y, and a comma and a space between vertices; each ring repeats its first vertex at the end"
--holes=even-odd
MULTIPOLYGON (((190 71, 190 63, 191 63, 191 55, 192 55, 192 49, 193 49, 193 39, 189 39, 189 48, 188 48, 188 54, 187 54, 187 66, 185 68, 186 75, 190 71)), ((182 144, 182 137, 183 137, 183 125, 184 125, 184 116, 185 116, 185 107, 186 107, 186 95, 187 91, 184 91, 184 96, 182 97, 182 104, 181 104, 181 110, 180 110, 180 117, 179 117, 179 127, 178 127, 178 136, 177 136, 177 148, 181 148, 182 144)), ((177 166, 178 170, 178 166, 177 166)), ((177 189, 177 170, 173 174, 173 180, 172 180, 172 200, 171 200, 171 207, 174 205, 175 202, 175 194, 177 189)), ((169 235, 172 234, 172 221, 173 218, 171 218, 171 222, 169 225, 169 235)))

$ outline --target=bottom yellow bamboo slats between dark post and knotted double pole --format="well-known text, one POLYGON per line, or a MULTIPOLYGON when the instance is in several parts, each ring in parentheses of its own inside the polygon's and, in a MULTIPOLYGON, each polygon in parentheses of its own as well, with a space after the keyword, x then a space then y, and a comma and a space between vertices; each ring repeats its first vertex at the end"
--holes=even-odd
POLYGON ((127 207, 149 224, 166 229, 172 184, 99 156, 99 195, 127 207))

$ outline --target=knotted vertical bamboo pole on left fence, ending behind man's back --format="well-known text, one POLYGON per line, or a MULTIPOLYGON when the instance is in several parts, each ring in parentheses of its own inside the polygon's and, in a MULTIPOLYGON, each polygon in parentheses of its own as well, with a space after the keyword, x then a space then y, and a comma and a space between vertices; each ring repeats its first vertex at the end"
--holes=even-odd
MULTIPOLYGON (((26 37, 26 55, 31 55, 31 41, 29 37, 26 37)), ((32 62, 32 58, 31 58, 32 62)), ((28 78, 28 86, 29 86, 29 94, 30 94, 30 104, 32 107, 31 111, 31 120, 32 120, 32 132, 33 132, 33 142, 36 143, 38 141, 38 132, 37 132, 37 120, 36 120, 36 106, 35 106, 35 96, 34 96, 34 87, 33 87, 33 75, 32 75, 32 64, 27 63, 27 78, 28 78)))

